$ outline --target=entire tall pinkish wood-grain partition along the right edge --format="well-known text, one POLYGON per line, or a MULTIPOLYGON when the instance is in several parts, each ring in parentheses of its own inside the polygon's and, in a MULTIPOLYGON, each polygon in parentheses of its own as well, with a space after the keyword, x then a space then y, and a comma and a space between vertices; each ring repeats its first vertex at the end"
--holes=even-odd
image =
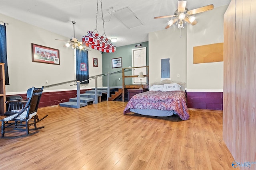
POLYGON ((255 8, 256 0, 232 0, 224 15, 223 139, 240 163, 256 161, 255 8))

